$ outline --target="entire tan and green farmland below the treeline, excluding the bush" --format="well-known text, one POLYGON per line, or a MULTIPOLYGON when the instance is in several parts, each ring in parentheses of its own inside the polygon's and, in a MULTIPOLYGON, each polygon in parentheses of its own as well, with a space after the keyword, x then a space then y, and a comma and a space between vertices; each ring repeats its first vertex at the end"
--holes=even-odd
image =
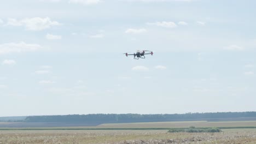
POLYGON ((256 143, 256 129, 242 128, 253 126, 256 126, 255 121, 196 121, 101 124, 96 127, 2 128, 0 143, 256 143), (229 129, 222 129, 222 133, 167 133, 168 128, 185 128, 188 125, 229 129))

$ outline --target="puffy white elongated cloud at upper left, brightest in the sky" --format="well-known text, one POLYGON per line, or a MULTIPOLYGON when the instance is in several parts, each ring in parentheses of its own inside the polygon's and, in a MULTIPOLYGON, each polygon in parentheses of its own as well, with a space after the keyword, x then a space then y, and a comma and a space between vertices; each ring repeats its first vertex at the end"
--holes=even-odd
POLYGON ((28 31, 42 31, 52 26, 60 26, 61 23, 57 21, 51 21, 49 17, 33 17, 22 20, 8 19, 7 25, 9 26, 25 26, 28 31))

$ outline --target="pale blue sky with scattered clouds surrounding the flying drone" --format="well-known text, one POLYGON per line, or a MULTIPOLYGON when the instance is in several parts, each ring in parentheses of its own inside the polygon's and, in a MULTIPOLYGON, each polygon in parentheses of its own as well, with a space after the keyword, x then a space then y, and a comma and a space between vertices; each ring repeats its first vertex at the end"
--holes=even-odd
POLYGON ((256 111, 255 4, 4 1, 0 116, 256 111))

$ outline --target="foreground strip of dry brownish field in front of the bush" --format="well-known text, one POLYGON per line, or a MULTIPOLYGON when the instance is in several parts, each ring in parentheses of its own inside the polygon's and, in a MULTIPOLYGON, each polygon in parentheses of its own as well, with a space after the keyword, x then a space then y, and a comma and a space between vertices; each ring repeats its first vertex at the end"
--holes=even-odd
POLYGON ((256 143, 256 129, 223 133, 167 133, 167 130, 0 130, 0 143, 256 143))

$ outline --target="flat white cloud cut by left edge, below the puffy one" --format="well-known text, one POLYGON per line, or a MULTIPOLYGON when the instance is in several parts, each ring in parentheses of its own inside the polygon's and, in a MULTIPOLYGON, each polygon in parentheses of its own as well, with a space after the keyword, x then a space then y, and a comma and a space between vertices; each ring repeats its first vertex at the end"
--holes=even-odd
POLYGON ((38 44, 26 44, 23 41, 20 43, 6 43, 0 44, 0 55, 5 53, 37 51, 39 49, 42 49, 42 46, 38 44))

